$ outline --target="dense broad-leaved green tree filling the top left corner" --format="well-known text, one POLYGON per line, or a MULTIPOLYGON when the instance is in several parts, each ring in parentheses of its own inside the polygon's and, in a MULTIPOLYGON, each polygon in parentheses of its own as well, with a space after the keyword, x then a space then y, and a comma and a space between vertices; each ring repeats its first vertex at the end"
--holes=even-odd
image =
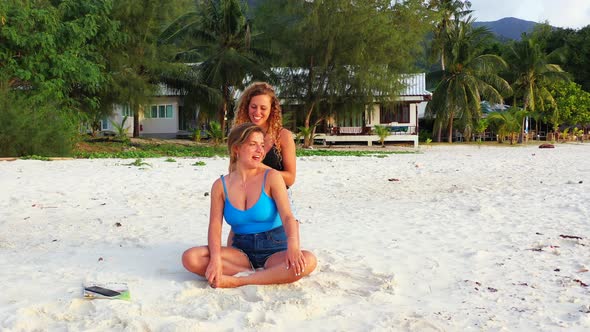
POLYGON ((96 109, 109 80, 103 49, 119 45, 111 1, 5 0, 0 5, 0 82, 32 103, 96 109))

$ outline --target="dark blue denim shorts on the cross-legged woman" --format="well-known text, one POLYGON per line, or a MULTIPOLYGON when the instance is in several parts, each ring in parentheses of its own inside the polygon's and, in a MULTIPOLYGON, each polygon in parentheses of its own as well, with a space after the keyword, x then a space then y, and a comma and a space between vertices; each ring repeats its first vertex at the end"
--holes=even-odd
POLYGON ((287 250, 287 234, 283 226, 255 234, 234 234, 232 247, 243 251, 255 269, 264 267, 272 254, 287 250))

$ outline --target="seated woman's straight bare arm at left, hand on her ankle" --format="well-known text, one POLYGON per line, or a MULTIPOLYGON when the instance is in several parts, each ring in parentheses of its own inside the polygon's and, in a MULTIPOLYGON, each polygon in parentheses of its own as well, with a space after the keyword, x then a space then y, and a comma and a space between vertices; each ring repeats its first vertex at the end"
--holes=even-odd
POLYGON ((223 225, 223 207, 225 199, 223 196, 223 184, 221 179, 217 179, 211 187, 211 207, 209 211, 209 230, 208 230, 208 247, 209 247, 209 265, 205 271, 205 277, 210 284, 223 273, 221 261, 221 227, 223 225))

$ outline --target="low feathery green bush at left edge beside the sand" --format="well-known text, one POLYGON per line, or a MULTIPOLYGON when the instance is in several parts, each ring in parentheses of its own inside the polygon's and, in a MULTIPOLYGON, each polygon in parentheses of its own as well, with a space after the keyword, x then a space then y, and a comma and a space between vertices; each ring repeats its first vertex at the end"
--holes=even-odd
POLYGON ((78 138, 78 118, 24 96, 0 91, 0 157, 67 156, 78 138))

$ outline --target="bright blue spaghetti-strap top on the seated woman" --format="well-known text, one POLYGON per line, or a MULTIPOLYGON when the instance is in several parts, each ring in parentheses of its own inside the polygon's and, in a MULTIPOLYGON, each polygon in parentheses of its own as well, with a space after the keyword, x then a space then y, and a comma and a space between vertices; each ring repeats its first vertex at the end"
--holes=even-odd
POLYGON ((266 175, 269 170, 264 172, 262 188, 258 201, 249 209, 236 209, 229 201, 225 179, 221 176, 223 183, 223 192, 225 193, 225 206, 223 207, 223 217, 232 227, 236 234, 253 234, 269 231, 283 224, 275 201, 270 198, 264 191, 266 175))

